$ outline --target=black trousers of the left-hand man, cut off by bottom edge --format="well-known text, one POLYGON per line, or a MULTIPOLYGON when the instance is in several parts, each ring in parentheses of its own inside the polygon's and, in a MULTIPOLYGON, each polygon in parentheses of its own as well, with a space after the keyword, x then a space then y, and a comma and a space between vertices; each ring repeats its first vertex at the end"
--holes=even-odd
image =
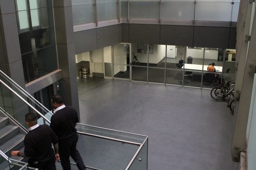
POLYGON ((28 166, 35 167, 40 170, 56 170, 55 160, 56 160, 55 154, 53 154, 52 157, 47 161, 43 161, 43 162, 28 161, 28 166))

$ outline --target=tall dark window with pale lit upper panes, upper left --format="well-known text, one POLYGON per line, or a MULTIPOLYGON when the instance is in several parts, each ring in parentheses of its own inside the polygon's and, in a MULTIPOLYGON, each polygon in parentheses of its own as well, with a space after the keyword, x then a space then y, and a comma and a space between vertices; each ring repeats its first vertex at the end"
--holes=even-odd
POLYGON ((57 54, 51 0, 15 0, 25 82, 56 69, 57 54))

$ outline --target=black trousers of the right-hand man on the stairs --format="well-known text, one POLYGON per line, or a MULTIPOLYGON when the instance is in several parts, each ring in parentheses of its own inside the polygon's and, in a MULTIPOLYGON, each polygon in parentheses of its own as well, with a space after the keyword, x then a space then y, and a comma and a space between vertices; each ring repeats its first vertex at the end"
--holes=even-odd
POLYGON ((78 136, 64 143, 59 143, 59 157, 63 170, 71 170, 69 156, 77 163, 79 170, 85 170, 83 159, 77 151, 78 136))

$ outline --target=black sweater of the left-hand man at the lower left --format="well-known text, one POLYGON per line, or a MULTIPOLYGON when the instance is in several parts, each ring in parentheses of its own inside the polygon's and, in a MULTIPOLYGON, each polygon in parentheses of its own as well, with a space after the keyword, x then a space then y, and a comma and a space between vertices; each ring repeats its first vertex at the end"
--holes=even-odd
POLYGON ((52 143, 58 143, 58 137, 48 125, 39 125, 28 131, 24 139, 24 154, 31 157, 28 161, 47 161, 54 154, 52 143))

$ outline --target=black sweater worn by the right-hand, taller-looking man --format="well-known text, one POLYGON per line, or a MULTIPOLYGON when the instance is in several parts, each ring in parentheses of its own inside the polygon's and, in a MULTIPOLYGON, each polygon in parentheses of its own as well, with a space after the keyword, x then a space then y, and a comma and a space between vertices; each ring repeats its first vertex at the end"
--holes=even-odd
POLYGON ((52 115, 50 127, 58 136, 59 143, 71 140, 77 135, 77 122, 77 111, 71 106, 66 106, 52 115))

